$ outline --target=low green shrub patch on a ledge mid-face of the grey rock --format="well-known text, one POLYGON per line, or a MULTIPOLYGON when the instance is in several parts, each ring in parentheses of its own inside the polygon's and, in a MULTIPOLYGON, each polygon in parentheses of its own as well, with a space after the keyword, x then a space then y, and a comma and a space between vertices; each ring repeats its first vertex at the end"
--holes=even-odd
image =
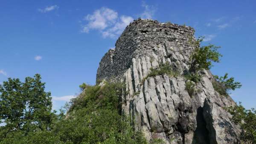
POLYGON ((179 72, 176 70, 173 70, 172 66, 169 63, 162 63, 157 68, 155 69, 151 68, 150 70, 151 72, 149 72, 149 74, 145 78, 143 78, 143 80, 141 81, 141 84, 143 84, 143 82, 148 77, 154 77, 157 75, 164 75, 164 74, 169 75, 170 77, 171 76, 177 77, 179 75, 179 72))

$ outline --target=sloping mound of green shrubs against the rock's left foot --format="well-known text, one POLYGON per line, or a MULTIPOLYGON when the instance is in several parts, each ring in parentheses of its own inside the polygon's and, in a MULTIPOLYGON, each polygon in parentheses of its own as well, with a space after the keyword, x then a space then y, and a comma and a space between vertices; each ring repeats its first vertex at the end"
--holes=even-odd
POLYGON ((122 88, 120 83, 87 86, 80 97, 73 99, 68 118, 57 123, 53 132, 60 141, 73 144, 146 143, 140 132, 134 132, 131 121, 120 115, 122 88))

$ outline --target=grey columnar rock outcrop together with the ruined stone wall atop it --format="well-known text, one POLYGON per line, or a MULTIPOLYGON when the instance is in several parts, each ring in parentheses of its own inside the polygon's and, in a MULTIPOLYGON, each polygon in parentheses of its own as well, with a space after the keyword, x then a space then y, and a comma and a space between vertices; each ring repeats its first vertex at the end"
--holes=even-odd
POLYGON ((235 105, 218 94, 212 74, 204 70, 197 92, 185 89, 189 56, 194 47, 194 29, 153 20, 135 20, 102 58, 97 81, 123 81, 122 112, 134 119, 150 141, 161 138, 167 144, 237 144, 239 128, 223 108, 235 105), (148 77, 152 68, 169 63, 180 76, 148 77))

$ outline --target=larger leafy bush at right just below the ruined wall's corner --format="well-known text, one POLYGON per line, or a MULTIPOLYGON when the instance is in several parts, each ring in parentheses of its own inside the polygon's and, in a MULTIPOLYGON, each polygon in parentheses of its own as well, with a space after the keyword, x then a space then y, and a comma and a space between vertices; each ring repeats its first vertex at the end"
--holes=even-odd
POLYGON ((208 70, 212 67, 212 61, 220 61, 219 57, 222 55, 217 51, 220 47, 212 44, 200 47, 202 41, 203 38, 199 37, 197 41, 192 43, 195 46, 195 50, 189 60, 189 72, 196 73, 202 69, 208 70))

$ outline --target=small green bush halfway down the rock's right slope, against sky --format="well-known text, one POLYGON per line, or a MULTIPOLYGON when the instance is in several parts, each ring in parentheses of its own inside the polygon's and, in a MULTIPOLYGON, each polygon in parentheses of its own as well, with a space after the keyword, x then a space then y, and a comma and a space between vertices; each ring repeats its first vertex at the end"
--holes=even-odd
POLYGON ((218 77, 215 75, 215 80, 212 82, 213 88, 221 95, 227 96, 230 90, 235 90, 241 88, 240 82, 234 82, 234 78, 228 78, 226 73, 223 77, 218 77))

